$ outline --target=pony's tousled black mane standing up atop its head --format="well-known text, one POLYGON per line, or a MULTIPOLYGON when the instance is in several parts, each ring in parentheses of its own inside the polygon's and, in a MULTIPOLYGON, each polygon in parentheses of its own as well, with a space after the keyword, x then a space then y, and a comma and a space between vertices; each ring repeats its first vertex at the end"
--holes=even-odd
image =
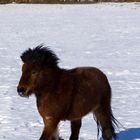
POLYGON ((21 59, 23 63, 37 64, 42 66, 57 66, 59 58, 48 47, 43 44, 36 48, 29 48, 22 53, 21 59))

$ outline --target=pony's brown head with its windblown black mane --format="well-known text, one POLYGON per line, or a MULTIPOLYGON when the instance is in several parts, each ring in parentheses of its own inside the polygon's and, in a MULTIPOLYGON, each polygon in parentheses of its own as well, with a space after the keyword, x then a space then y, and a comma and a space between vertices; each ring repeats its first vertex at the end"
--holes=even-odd
POLYGON ((39 45, 23 52, 21 60, 23 61, 22 76, 17 91, 20 96, 28 97, 40 86, 44 69, 48 70, 45 73, 49 75, 50 69, 57 68, 59 59, 49 48, 39 45))

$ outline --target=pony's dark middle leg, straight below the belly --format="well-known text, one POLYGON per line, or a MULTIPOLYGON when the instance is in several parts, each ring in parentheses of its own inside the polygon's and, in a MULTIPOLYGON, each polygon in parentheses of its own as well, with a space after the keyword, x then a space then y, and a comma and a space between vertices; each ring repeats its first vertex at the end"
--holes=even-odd
POLYGON ((70 136, 70 140, 78 140, 81 125, 82 125, 81 119, 71 121, 71 136, 70 136))

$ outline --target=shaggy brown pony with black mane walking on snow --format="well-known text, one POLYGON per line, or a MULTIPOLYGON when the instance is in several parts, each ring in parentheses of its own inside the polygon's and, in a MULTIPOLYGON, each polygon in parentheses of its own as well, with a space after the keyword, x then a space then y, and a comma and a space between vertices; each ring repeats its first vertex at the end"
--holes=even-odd
POLYGON ((58 57, 49 48, 39 45, 21 55, 22 76, 17 91, 22 97, 34 94, 44 121, 39 140, 58 140, 60 121, 71 122, 70 140, 78 140, 81 119, 94 114, 104 140, 116 139, 117 125, 111 110, 111 88, 103 72, 94 67, 70 70, 58 66, 58 57))

